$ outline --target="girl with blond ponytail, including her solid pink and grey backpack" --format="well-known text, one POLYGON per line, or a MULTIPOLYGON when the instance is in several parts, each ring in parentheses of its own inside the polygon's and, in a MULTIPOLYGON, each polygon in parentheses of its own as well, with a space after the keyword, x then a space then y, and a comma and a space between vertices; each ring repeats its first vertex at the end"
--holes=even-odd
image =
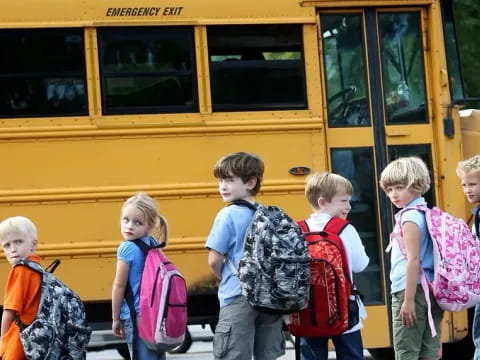
POLYGON ((113 333, 126 339, 133 360, 164 360, 166 351, 183 342, 187 326, 185 280, 161 250, 167 221, 154 199, 137 193, 122 207, 120 229, 124 241, 112 287, 113 333))

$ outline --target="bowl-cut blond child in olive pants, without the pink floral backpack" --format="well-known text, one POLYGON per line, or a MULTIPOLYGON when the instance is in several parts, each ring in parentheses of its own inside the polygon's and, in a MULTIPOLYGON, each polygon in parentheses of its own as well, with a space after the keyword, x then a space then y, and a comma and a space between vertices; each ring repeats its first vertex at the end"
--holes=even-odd
POLYGON ((430 188, 425 163, 417 157, 392 161, 382 171, 380 186, 395 207, 391 234, 391 293, 395 359, 439 359, 443 310, 422 282, 434 279, 433 241, 422 194, 430 188))

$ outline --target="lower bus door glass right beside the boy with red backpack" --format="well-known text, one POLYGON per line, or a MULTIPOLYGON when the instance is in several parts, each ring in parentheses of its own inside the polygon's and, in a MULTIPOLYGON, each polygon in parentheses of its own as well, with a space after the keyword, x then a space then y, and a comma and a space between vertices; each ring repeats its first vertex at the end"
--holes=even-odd
POLYGON ((365 250, 370 258, 368 267, 361 273, 354 274, 355 284, 365 296, 366 304, 383 303, 383 289, 380 266, 380 233, 376 218, 375 163, 373 149, 335 148, 331 150, 332 171, 352 182, 352 209, 348 219, 357 229, 365 250))

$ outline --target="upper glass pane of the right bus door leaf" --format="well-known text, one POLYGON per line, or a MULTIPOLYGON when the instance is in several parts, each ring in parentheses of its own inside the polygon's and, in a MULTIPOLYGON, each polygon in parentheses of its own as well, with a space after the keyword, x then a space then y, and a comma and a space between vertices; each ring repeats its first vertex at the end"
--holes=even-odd
POLYGON ((387 123, 428 122, 420 13, 380 13, 387 123))

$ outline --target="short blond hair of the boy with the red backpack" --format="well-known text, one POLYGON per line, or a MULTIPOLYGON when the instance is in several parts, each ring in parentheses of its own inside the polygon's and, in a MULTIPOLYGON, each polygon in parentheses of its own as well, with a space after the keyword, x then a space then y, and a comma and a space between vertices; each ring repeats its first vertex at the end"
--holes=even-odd
POLYGON ((318 210, 318 199, 332 201, 335 195, 352 195, 352 183, 341 175, 329 172, 317 172, 307 177, 305 197, 312 206, 318 210))

